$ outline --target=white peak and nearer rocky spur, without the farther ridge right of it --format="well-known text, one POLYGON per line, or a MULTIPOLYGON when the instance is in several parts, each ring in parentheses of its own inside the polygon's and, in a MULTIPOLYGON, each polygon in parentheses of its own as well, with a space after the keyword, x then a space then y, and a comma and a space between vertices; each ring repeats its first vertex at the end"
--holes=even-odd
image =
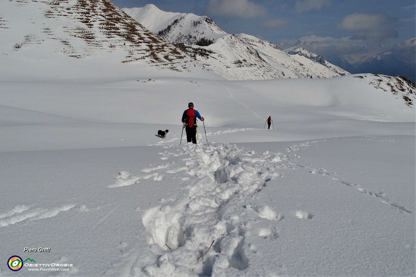
POLYGON ((264 61, 253 47, 235 35, 225 33, 206 16, 163 12, 152 4, 121 10, 224 78, 247 80, 285 76, 283 71, 264 61), (201 39, 213 43, 208 46, 196 45, 201 39))

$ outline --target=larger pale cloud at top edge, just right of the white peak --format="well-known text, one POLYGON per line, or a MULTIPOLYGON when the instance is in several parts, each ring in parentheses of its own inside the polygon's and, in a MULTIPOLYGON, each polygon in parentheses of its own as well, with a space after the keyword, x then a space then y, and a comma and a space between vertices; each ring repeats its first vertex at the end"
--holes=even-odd
POLYGON ((207 6, 210 15, 256 17, 266 14, 266 8, 250 0, 210 0, 207 6))

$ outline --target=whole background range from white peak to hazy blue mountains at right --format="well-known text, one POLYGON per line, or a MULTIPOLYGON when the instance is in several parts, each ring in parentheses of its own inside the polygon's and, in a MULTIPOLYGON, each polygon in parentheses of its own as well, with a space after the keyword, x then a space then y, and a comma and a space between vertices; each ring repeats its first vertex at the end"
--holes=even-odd
POLYGON ((227 34, 206 16, 164 12, 153 4, 122 10, 151 32, 230 80, 329 78, 376 73, 405 76, 415 81, 416 39, 393 47, 380 46, 377 51, 363 47, 365 54, 361 56, 337 55, 330 51, 322 54, 318 41, 299 40, 290 47, 277 46, 248 34, 227 34))

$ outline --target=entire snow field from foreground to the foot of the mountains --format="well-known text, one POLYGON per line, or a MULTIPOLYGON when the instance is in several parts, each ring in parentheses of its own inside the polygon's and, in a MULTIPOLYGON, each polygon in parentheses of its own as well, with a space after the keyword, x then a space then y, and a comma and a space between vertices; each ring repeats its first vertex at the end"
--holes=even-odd
POLYGON ((0 276, 415 275, 415 113, 389 91, 75 66, 2 70, 0 276))

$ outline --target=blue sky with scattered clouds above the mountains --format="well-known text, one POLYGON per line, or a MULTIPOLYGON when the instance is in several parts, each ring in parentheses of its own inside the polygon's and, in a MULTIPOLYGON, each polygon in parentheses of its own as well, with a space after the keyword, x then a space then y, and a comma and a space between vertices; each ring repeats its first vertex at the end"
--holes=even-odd
POLYGON ((207 15, 229 34, 290 46, 298 39, 391 45, 415 35, 414 0, 112 0, 166 12, 207 15))

